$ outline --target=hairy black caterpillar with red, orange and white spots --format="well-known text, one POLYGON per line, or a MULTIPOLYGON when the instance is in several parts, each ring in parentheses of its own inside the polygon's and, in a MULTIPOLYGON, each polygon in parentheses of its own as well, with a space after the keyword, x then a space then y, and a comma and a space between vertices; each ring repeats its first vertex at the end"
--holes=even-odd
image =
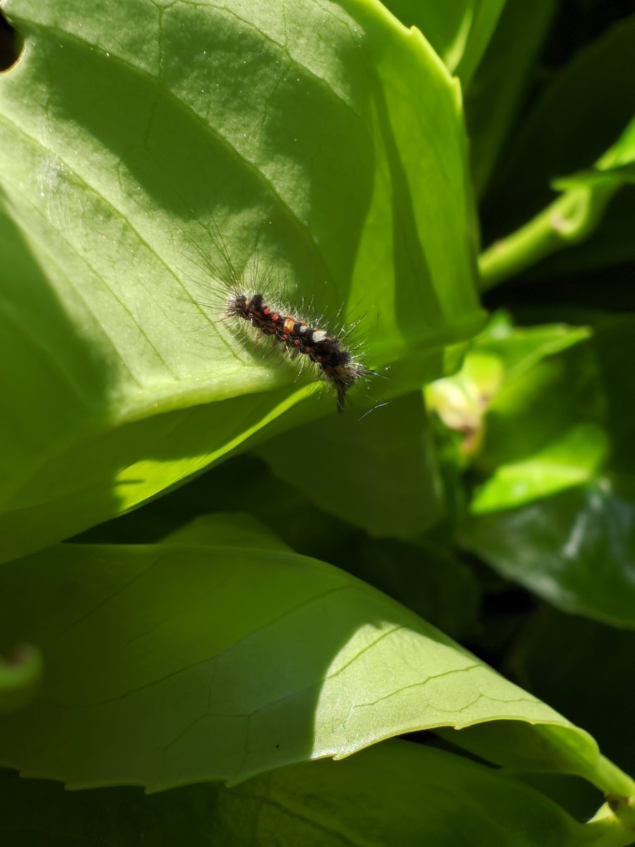
POLYGON ((354 324, 348 329, 343 329, 341 333, 331 333, 318 325, 321 323, 319 320, 312 322, 290 313, 285 314, 285 310, 270 305, 267 302, 268 296, 260 290, 270 283, 271 274, 267 272, 259 280, 257 262, 253 274, 250 274, 252 285, 245 285, 242 276, 237 273, 231 262, 226 243, 215 222, 213 241, 220 253, 222 267, 217 266, 200 246, 194 246, 202 259, 203 270, 210 271, 230 291, 224 317, 246 321, 258 335, 270 336, 275 340, 281 346, 282 352, 291 358, 306 357, 304 362, 314 364, 320 377, 335 391, 337 411, 343 412, 348 390, 359 379, 377 375, 359 361, 354 349, 347 349, 345 339, 354 329, 354 324))

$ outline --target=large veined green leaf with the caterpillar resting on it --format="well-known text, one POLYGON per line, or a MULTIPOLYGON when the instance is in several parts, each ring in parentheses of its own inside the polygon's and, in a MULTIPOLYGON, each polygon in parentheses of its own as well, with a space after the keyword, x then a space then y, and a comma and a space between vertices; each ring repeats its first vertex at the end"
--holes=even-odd
POLYGON ((238 271, 257 248, 291 301, 359 318, 370 366, 393 363, 376 397, 473 333, 458 86, 381 4, 3 10, 25 37, 0 80, 4 558, 265 438, 311 390, 219 320, 218 232, 238 271))

